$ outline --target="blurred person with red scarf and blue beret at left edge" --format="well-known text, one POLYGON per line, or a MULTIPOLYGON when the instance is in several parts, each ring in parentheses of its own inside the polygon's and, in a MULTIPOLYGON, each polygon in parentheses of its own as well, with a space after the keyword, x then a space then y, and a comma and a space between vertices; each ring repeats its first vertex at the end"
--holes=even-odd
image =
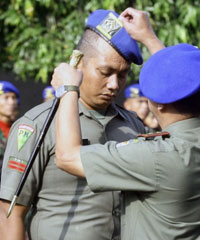
POLYGON ((4 151, 12 123, 19 113, 19 91, 10 82, 0 81, 0 181, 4 151))

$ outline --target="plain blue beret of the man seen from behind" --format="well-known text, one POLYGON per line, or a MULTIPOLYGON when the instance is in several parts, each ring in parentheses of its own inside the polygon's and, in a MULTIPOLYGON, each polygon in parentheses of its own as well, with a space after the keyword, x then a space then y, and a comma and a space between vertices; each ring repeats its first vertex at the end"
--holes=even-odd
POLYGON ((200 50, 181 43, 164 48, 144 64, 139 77, 143 94, 157 103, 173 103, 200 91, 200 50))

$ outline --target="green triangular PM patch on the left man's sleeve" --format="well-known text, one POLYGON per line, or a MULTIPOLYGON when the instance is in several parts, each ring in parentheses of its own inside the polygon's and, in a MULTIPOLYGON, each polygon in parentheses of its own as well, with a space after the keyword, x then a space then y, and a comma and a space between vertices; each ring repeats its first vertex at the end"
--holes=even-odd
POLYGON ((18 151, 22 149, 33 132, 34 129, 32 127, 25 124, 19 125, 17 136, 18 151))

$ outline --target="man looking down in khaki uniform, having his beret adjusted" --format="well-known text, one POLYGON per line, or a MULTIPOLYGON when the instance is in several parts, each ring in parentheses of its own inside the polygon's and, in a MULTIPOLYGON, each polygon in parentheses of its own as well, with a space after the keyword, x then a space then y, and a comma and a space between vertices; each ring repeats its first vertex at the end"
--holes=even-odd
MULTIPOLYGON (((82 138, 86 144, 127 140, 144 132, 137 117, 132 118, 126 110, 113 102, 125 85, 130 63, 142 63, 137 43, 121 27, 117 17, 115 12, 95 11, 88 19, 87 29, 78 46, 84 52, 78 66, 84 72, 79 117, 82 138), (105 39, 106 34, 101 29, 102 26, 106 28, 107 23, 112 27, 108 27, 108 33, 111 34, 109 40, 105 39), (119 30, 120 35, 114 34, 114 30, 119 30), (121 38, 128 42, 122 42, 121 38)), ((141 29, 142 25, 151 36, 153 33, 148 29, 146 20, 140 23, 136 27, 141 29)), ((150 51, 154 51, 157 41, 153 40, 155 44, 149 47, 150 51)), ((52 101, 48 101, 33 108, 12 127, 4 158, 0 192, 1 236, 4 240, 23 239, 24 216, 32 205, 29 235, 33 240, 119 239, 118 192, 94 194, 83 178, 66 174, 56 167, 55 120, 47 132, 17 205, 6 219, 10 200, 51 105, 52 101)))

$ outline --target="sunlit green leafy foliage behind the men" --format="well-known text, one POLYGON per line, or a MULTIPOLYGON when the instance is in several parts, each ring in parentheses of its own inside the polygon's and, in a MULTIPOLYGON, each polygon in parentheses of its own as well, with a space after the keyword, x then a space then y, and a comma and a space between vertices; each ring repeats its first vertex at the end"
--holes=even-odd
MULTIPOLYGON (((46 83, 54 67, 69 60, 92 11, 104 8, 121 13, 130 6, 149 12, 166 46, 187 42, 200 47, 199 0, 1 0, 1 69, 46 83)), ((141 49, 146 60, 149 53, 141 49)), ((134 65, 132 70, 130 79, 137 81, 140 67, 134 65)))

